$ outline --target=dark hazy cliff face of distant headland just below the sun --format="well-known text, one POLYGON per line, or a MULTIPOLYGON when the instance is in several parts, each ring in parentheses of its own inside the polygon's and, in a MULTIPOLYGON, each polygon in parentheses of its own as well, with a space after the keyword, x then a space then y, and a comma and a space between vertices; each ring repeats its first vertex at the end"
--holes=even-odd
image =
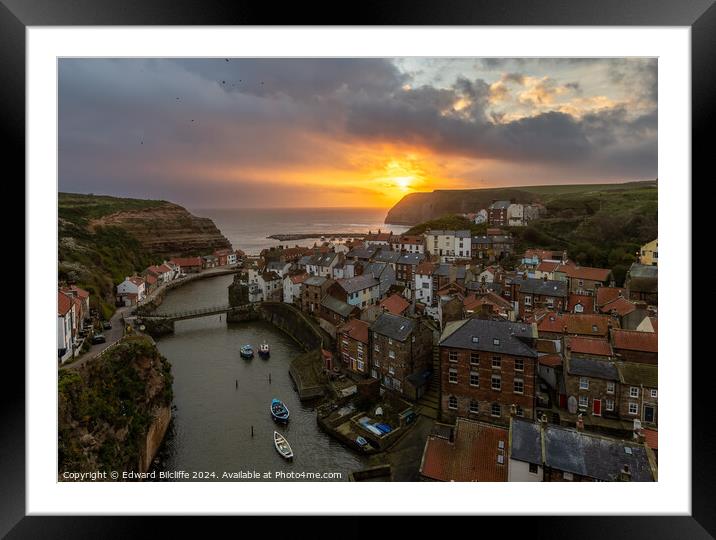
POLYGON ((477 212, 487 208, 494 200, 515 199, 529 203, 536 195, 520 189, 451 189, 432 193, 410 193, 390 209, 386 223, 416 225, 447 214, 477 212))

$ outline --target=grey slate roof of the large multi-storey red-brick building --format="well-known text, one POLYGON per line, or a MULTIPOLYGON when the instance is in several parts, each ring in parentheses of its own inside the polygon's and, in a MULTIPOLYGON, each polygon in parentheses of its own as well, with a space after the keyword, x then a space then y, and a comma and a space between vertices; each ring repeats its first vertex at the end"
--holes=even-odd
POLYGON ((462 325, 451 329, 449 334, 446 328, 440 338, 440 346, 537 358, 537 351, 523 341, 537 337, 533 335, 532 325, 483 319, 459 322, 462 325), (498 345, 495 339, 499 340, 498 345))

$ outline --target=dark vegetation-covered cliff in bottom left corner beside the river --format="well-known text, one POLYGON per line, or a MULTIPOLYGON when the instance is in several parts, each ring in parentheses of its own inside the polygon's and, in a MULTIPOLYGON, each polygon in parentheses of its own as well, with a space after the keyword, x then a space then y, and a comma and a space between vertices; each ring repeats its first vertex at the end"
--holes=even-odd
POLYGON ((171 419, 171 365, 146 337, 59 373, 59 478, 146 472, 171 419))

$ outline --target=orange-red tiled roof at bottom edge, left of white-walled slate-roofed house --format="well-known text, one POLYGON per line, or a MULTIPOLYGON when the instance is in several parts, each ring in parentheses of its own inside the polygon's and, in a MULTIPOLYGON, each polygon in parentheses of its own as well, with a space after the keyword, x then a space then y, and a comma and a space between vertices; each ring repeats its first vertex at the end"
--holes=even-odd
POLYGON ((443 482, 506 482, 508 445, 506 429, 459 418, 454 442, 428 438, 420 473, 443 482), (503 456, 503 463, 497 462, 498 454, 503 456))

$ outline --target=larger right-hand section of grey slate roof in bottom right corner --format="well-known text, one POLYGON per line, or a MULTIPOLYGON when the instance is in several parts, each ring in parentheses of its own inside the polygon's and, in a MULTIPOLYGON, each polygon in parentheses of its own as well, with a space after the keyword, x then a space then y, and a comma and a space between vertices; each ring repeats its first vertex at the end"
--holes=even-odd
POLYGON ((629 466, 632 482, 654 480, 644 445, 550 424, 544 436, 546 465, 605 482, 629 466), (626 449, 631 453, 628 453, 626 449))

